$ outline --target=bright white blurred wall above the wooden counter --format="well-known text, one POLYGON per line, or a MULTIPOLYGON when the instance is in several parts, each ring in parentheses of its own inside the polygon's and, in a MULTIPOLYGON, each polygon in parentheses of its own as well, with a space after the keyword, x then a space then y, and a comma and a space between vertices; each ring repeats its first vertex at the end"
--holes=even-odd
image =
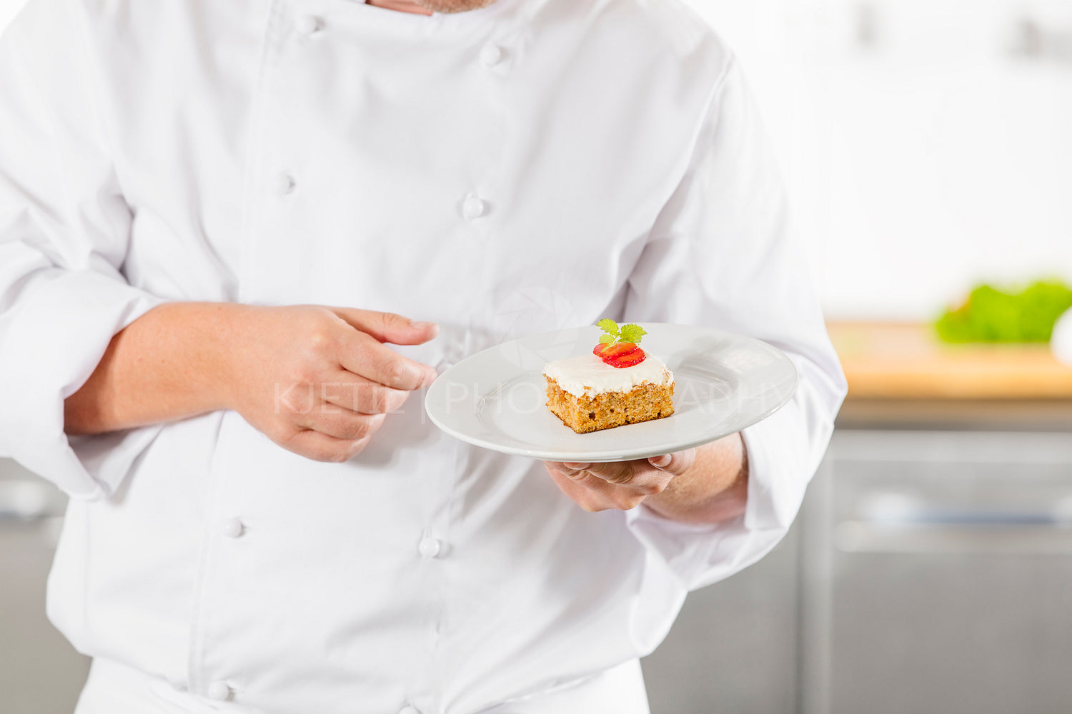
POLYGON ((1072 278, 1069 2, 689 1, 751 64, 829 316, 1072 278), (1063 60, 1014 54, 1025 16, 1063 60))

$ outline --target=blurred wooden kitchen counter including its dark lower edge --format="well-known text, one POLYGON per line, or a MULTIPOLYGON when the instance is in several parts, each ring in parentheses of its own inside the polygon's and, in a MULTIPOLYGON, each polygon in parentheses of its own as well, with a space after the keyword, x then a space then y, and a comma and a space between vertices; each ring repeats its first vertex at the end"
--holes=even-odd
POLYGON ((849 383, 842 425, 1072 427, 1072 367, 1046 345, 947 345, 918 322, 828 329, 849 383))

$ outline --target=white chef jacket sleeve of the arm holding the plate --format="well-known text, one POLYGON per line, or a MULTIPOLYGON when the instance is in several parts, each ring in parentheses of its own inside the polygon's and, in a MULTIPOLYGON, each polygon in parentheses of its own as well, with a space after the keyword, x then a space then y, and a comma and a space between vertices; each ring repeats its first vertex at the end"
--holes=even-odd
POLYGON ((742 431, 743 517, 689 526, 641 505, 634 534, 689 589, 766 555, 786 534, 845 396, 807 261, 787 223, 785 192, 756 106, 730 60, 696 135, 685 174, 630 274, 624 318, 701 324, 781 349, 796 367, 792 399, 742 431))

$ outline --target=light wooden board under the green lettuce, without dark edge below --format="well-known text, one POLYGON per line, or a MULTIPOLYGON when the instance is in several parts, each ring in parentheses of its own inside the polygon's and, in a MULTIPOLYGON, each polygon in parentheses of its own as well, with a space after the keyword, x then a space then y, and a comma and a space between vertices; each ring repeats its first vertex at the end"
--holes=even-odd
POLYGON ((947 345, 915 322, 830 322, 850 399, 1072 399, 1046 345, 947 345))

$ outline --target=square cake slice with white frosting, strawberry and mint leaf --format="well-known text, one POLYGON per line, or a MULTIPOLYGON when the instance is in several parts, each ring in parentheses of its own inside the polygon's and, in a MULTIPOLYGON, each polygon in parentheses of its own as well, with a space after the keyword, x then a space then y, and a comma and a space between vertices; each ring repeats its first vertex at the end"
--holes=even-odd
POLYGON ((606 332, 610 325, 613 338, 606 340, 605 335, 606 341, 592 353, 549 362, 544 368, 548 409, 577 434, 673 413, 673 375, 637 346, 643 330, 625 325, 619 331, 611 320, 599 322, 606 332), (630 341, 621 340, 622 334, 630 341))

